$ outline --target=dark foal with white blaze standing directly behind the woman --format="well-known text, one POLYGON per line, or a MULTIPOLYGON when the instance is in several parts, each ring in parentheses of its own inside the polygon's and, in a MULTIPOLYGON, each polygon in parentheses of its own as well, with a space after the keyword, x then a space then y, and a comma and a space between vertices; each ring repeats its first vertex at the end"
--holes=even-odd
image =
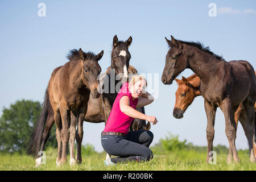
MULTIPOLYGON (((129 61, 131 59, 131 55, 128 49, 132 41, 133 38, 131 38, 131 36, 125 42, 119 41, 117 35, 115 35, 113 38, 111 65, 108 67, 105 73, 102 85, 102 89, 104 89, 102 97, 104 103, 105 124, 108 121, 110 111, 112 110, 115 98, 122 87, 122 83, 127 81, 129 77, 128 68, 130 65, 129 61)), ((140 109, 137 110, 141 111, 140 109)), ((136 120, 137 119, 135 119, 135 121, 136 120)), ((130 130, 139 129, 140 126, 134 126, 134 123, 131 125, 130 130)), ((148 130, 150 129, 149 122, 146 125, 146 129, 147 128, 148 130)), ((109 154, 106 155, 106 159, 108 158, 110 158, 109 154)))

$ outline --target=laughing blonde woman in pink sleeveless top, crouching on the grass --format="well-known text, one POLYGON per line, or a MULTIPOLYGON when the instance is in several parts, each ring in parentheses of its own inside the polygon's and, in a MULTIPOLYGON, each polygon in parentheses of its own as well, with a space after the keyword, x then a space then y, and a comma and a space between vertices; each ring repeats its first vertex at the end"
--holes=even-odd
POLYGON ((145 115, 137 110, 154 101, 154 98, 145 88, 147 81, 143 76, 135 75, 129 84, 125 82, 115 98, 112 110, 104 131, 101 134, 101 144, 104 150, 110 154, 119 156, 104 161, 106 166, 118 162, 148 161, 153 153, 148 148, 153 140, 151 131, 129 131, 134 118, 144 119, 155 125, 158 121, 154 116, 145 115))

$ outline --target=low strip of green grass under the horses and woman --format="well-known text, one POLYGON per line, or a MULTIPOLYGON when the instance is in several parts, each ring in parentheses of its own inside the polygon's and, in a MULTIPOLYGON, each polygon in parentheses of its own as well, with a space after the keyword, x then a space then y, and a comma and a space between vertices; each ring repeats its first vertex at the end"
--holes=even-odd
MULTIPOLYGON (((154 151, 154 147, 152 147, 154 151)), ((61 167, 56 166, 57 150, 49 148, 46 151, 46 164, 35 167, 35 159, 32 156, 21 154, 0 154, 0 170, 34 171, 34 170, 250 170, 255 171, 256 164, 250 163, 247 151, 238 151, 241 162, 227 164, 227 154, 217 153, 217 164, 207 164, 206 151, 188 150, 187 148, 177 151, 154 151, 154 158, 150 162, 118 164, 117 166, 106 167, 103 163, 105 152, 92 152, 82 156, 82 164, 70 167, 69 163, 61 167)), ((69 156, 68 156, 69 162, 69 156)))

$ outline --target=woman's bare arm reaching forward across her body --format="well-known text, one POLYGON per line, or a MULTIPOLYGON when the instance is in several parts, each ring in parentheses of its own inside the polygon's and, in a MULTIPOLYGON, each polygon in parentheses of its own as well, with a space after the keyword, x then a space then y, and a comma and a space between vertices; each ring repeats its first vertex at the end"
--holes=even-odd
POLYGON ((130 100, 128 96, 123 96, 119 101, 119 105, 122 113, 128 115, 129 117, 144 119, 146 121, 152 122, 153 125, 155 125, 158 122, 158 120, 154 116, 145 115, 133 109, 133 107, 130 106, 130 100))

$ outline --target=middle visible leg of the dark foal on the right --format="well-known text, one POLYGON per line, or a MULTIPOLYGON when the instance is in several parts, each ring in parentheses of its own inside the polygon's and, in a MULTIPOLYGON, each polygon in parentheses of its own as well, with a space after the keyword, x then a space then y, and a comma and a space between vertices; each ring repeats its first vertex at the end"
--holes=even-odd
POLYGON ((228 164, 232 162, 232 155, 235 162, 239 162, 237 150, 236 150, 236 121, 234 119, 234 113, 237 108, 232 108, 231 100, 226 98, 221 105, 221 110, 225 117, 225 133, 229 140, 229 155, 228 164))

